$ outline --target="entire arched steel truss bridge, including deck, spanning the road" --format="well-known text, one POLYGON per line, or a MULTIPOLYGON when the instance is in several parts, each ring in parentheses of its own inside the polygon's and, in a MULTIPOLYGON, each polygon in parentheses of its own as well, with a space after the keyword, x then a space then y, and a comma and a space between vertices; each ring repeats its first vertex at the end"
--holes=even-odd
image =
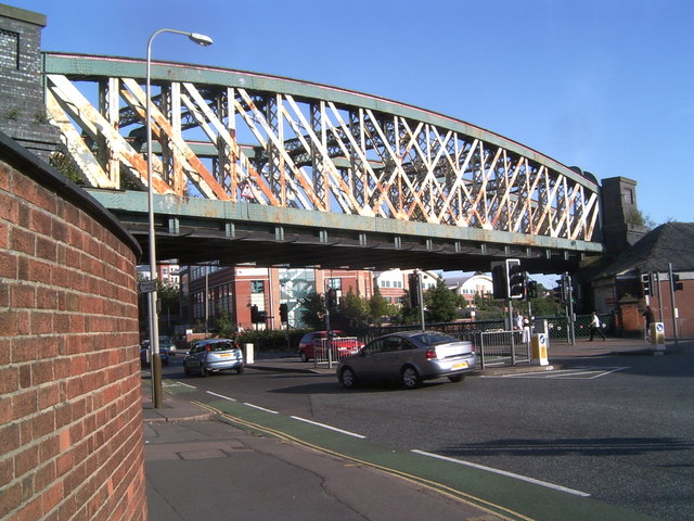
MULTIPOLYGON (((70 161, 146 244, 145 62, 44 53, 43 67, 70 161)), ((592 176, 467 123, 202 65, 153 62, 152 86, 160 259, 488 270, 514 256, 558 272, 603 250, 592 176)))

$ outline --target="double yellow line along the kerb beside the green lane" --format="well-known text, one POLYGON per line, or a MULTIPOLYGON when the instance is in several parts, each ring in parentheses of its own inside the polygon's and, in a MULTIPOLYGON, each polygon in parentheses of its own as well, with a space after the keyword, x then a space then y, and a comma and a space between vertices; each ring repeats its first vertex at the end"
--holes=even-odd
POLYGON ((479 508, 484 511, 486 511, 487 513, 490 513, 492 516, 498 517, 501 520, 504 521, 535 521, 532 518, 528 518, 527 516, 523 516, 522 513, 518 513, 514 510, 511 510, 509 508, 502 507, 500 505, 496 505, 491 501, 487 501, 485 499, 481 499, 479 497, 476 496, 472 496, 470 494, 466 494, 462 491, 458 491, 451 486, 445 485, 442 483, 438 483, 436 481, 430 481, 424 478, 420 478, 413 474, 410 474, 408 472, 403 472, 401 470, 397 470, 397 469, 391 469, 389 467, 384 467, 382 465, 377 465, 374 463, 372 461, 365 461, 363 459, 359 459, 359 458, 355 458, 354 456, 348 456, 346 454, 342 454, 342 453, 337 453, 335 450, 331 450, 329 448, 325 447, 321 447, 320 445, 316 445, 312 443, 309 443, 305 440, 298 439, 296 436, 292 436, 291 434, 287 434, 285 432, 279 431, 277 429, 271 429, 269 427, 265 427, 261 425, 259 423, 254 423, 252 421, 248 420, 244 420, 243 418, 239 418, 237 416, 233 416, 230 415, 229 412, 224 412, 223 410, 217 409, 216 407, 213 407, 208 404, 203 404, 201 402, 193 402, 193 404, 203 407, 204 409, 209 410, 210 412, 221 416, 223 419, 229 420, 232 423, 239 424, 239 425, 243 425, 246 427, 250 430, 254 431, 259 431, 262 432, 265 434, 274 436, 279 440, 288 442, 288 443, 295 443, 297 445, 301 445, 304 447, 308 447, 311 448, 313 450, 320 452, 320 453, 324 453, 324 454, 330 454, 332 456, 335 456, 337 458, 340 458, 343 460, 347 460, 347 461, 351 461, 357 465, 362 465, 364 467, 370 467, 372 469, 377 469, 382 472, 386 472, 390 475, 395 475, 397 478, 400 478, 402 480, 406 480, 410 483, 416 484, 416 485, 421 485, 421 486, 425 486, 426 488, 429 488, 432 491, 438 492, 439 494, 442 494, 447 497, 450 497, 452 499, 455 499, 458 501, 462 501, 465 503, 467 505, 471 505, 473 507, 479 508))

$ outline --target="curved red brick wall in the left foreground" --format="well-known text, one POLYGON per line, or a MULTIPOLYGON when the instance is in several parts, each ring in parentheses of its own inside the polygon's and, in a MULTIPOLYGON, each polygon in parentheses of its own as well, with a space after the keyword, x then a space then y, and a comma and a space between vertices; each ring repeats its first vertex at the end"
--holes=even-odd
POLYGON ((52 180, 0 162, 0 519, 143 520, 136 253, 52 180))

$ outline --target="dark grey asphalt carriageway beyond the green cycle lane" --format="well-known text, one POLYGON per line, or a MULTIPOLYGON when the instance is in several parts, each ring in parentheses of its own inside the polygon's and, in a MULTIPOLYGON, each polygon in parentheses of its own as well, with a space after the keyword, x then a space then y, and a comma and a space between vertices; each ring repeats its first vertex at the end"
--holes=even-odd
POLYGON ((568 487, 658 519, 694 519, 691 354, 583 358, 563 371, 440 380, 415 391, 346 391, 334 377, 253 369, 184 378, 178 358, 165 371, 167 381, 394 448, 568 487))

